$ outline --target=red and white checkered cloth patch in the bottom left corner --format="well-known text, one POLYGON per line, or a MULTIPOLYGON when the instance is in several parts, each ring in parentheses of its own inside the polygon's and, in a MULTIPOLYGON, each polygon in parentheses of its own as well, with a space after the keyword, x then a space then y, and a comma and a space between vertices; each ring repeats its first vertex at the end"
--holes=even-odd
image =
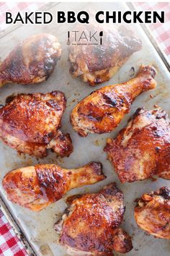
POLYGON ((14 230, 0 210, 0 255, 1 256, 25 256, 22 243, 17 238, 14 230))

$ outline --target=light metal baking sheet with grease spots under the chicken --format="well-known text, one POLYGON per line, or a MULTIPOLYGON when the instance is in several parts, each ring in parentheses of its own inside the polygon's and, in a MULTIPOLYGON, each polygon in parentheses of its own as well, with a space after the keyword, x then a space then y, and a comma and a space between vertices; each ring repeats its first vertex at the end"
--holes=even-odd
MULTIPOLYGON (((122 4, 110 4, 110 3, 98 3, 98 4, 87 4, 87 3, 61 3, 57 4, 55 7, 50 9, 55 15, 57 10, 115 10, 122 9, 122 4), (90 9, 89 9, 90 6, 90 9)), ((128 9, 128 7, 125 7, 128 9)), ((153 108, 156 104, 161 106, 170 116, 169 111, 169 72, 167 71, 163 61, 160 59, 156 53, 155 48, 153 48, 151 42, 148 40, 143 30, 140 26, 135 25, 136 33, 138 33, 141 40, 143 40, 143 49, 133 54, 126 64, 121 67, 120 71, 112 77, 109 82, 104 82, 102 85, 96 88, 91 88, 89 85, 82 82, 79 78, 75 79, 69 74, 69 63, 68 63, 68 51, 67 51, 67 31, 71 30, 73 25, 63 24, 58 25, 53 22, 50 25, 23 25, 18 27, 16 30, 2 37, 0 43, 0 53, 1 59, 4 59, 9 52, 17 45, 20 40, 27 38, 29 35, 35 33, 51 33, 58 37, 61 47, 63 48, 63 54, 61 60, 58 61, 55 71, 51 77, 46 82, 42 82, 37 85, 4 85, 0 92, 0 103, 4 104, 7 96, 12 95, 12 93, 33 93, 40 92, 46 93, 52 90, 61 90, 66 94, 67 108, 63 114, 62 119, 62 131, 69 132, 73 140, 74 151, 69 158, 56 158, 54 153, 50 153, 48 157, 37 160, 36 158, 29 155, 19 155, 15 150, 7 147, 3 143, 0 143, 0 180, 7 171, 13 168, 19 168, 22 166, 35 165, 36 163, 58 163, 64 168, 76 168, 83 166, 90 161, 100 161, 104 166, 104 174, 107 175, 107 179, 98 184, 91 186, 81 187, 79 189, 73 189, 67 193, 62 200, 55 202, 50 207, 42 210, 40 213, 32 213, 30 210, 21 208, 17 205, 12 204, 6 200, 6 195, 0 184, 1 197, 9 208, 12 216, 17 221, 22 231, 24 231, 25 236, 29 240, 32 248, 35 250, 37 255, 55 255, 55 256, 66 256, 66 250, 61 247, 58 243, 58 235, 53 230, 54 223, 60 218, 63 210, 66 208, 65 199, 69 195, 75 195, 84 192, 95 192, 106 184, 110 182, 117 182, 117 187, 119 187, 125 195, 125 205, 126 211, 124 216, 124 221, 122 222, 122 227, 125 231, 128 231, 130 236, 133 238, 133 250, 128 253, 128 255, 151 255, 151 256, 167 256, 170 252, 169 241, 164 239, 155 239, 153 236, 149 236, 141 229, 138 229, 134 219, 133 219, 133 208, 134 200, 143 192, 150 192, 151 190, 156 190, 161 186, 169 185, 169 181, 164 179, 157 179, 155 182, 151 180, 143 182, 134 182, 131 184, 120 184, 117 175, 112 170, 112 166, 107 161, 107 155, 104 153, 103 148, 106 143, 107 137, 115 137, 117 133, 125 127, 129 117, 135 112, 139 106, 145 106, 148 109, 153 108), (88 135, 86 138, 79 137, 76 132, 73 132, 71 124, 69 122, 69 115, 73 107, 86 95, 89 95, 91 91, 97 88, 102 88, 104 85, 112 85, 117 82, 124 82, 130 79, 130 68, 135 67, 135 71, 138 71, 140 64, 154 64, 157 69, 156 81, 158 82, 157 88, 150 90, 138 98, 133 103, 131 107, 130 114, 126 115, 122 120, 121 124, 117 129, 115 129, 111 134, 105 135, 88 135), (153 98, 150 95, 153 95, 153 98)), ((115 255, 119 255, 115 252, 115 255)))

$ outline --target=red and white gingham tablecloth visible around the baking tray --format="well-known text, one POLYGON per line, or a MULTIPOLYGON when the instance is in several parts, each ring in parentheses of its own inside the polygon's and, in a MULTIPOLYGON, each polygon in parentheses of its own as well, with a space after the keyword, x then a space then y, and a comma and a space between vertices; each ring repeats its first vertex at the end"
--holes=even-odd
MULTIPOLYGON (((0 3, 0 31, 5 30, 9 25, 5 24, 5 12, 35 12, 45 5, 43 2, 27 3, 27 2, 6 2, 0 3)), ((162 48, 166 56, 170 60, 170 3, 148 3, 136 2, 136 9, 140 10, 163 10, 166 12, 166 22, 164 24, 157 23, 148 25, 153 33, 153 36, 158 41, 159 46, 162 48)), ((0 255, 1 256, 24 256, 27 255, 22 243, 19 242, 16 234, 4 214, 0 210, 0 255)))

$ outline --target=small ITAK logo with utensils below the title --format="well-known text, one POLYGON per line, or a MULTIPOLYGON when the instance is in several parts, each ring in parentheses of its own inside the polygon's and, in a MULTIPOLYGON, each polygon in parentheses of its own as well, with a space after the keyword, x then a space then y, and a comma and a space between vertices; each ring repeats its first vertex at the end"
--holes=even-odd
POLYGON ((98 46, 102 45, 103 31, 68 31, 67 45, 98 46))

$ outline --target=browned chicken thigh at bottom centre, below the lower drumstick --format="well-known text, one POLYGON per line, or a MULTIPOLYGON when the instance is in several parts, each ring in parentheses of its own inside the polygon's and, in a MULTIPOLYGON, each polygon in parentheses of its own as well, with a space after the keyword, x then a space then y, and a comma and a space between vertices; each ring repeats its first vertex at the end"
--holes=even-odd
POLYGON ((113 255, 133 248, 130 236, 119 226, 125 213, 123 194, 109 184, 96 194, 68 197, 69 208, 55 231, 70 255, 113 255))

